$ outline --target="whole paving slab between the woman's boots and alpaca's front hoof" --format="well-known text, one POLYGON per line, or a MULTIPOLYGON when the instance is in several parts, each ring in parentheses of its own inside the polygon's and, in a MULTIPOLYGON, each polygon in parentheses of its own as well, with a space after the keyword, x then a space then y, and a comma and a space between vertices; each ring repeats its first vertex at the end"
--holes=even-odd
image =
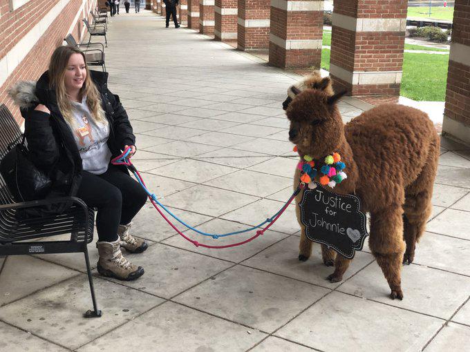
POLYGON ((272 332, 328 292, 305 282, 236 266, 173 300, 272 332))

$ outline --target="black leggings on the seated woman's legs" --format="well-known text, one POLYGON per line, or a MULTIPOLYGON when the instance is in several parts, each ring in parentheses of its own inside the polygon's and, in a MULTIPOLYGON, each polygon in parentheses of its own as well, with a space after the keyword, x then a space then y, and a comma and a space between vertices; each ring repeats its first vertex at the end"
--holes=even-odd
POLYGON ((118 239, 118 225, 131 222, 144 206, 147 193, 131 176, 110 164, 102 175, 84 171, 77 197, 86 205, 97 208, 98 239, 113 242, 118 239))

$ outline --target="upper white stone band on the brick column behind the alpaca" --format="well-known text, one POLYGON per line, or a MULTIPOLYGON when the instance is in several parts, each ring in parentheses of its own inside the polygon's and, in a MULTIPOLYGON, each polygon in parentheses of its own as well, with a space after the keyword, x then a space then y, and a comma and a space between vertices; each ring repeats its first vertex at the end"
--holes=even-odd
POLYGON ((333 12, 333 26, 354 32, 404 32, 406 19, 356 19, 333 12))

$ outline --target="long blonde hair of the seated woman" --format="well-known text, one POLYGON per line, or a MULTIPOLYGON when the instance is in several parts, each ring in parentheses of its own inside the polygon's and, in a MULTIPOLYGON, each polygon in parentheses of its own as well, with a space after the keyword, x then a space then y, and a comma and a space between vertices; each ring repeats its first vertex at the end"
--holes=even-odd
POLYGON ((79 92, 80 97, 86 96, 86 105, 88 105, 93 119, 107 125, 108 120, 106 119, 104 110, 101 106, 102 101, 100 92, 97 90, 93 80, 91 79, 88 65, 86 65, 85 55, 81 50, 74 48, 73 46, 59 46, 54 50, 52 57, 50 57, 49 87, 50 89, 55 89, 59 110, 69 124, 75 124, 75 119, 73 119, 72 116, 71 97, 67 94, 65 88, 65 72, 68 66, 68 60, 73 54, 82 55, 86 69, 86 78, 79 92))

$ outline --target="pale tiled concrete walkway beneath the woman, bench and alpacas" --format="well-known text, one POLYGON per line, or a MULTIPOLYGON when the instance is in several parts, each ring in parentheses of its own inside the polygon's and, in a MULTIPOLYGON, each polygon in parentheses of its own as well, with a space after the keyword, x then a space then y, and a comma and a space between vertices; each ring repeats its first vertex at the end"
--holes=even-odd
MULTIPOLYGON (((288 199, 297 158, 281 103, 299 77, 149 12, 113 19, 106 58, 137 135, 134 164, 187 222, 237 231, 288 199)), ((340 103, 345 120, 368 107, 340 103)), ((82 318, 91 299, 81 255, 0 258, 0 351, 464 351, 469 211, 470 149, 443 140, 428 232, 403 268, 404 300, 393 301, 367 245, 337 284, 318 246, 299 262, 294 205, 272 231, 222 251, 185 242, 147 205, 135 233, 151 246, 129 255, 146 273, 95 277, 100 319, 82 318)))

